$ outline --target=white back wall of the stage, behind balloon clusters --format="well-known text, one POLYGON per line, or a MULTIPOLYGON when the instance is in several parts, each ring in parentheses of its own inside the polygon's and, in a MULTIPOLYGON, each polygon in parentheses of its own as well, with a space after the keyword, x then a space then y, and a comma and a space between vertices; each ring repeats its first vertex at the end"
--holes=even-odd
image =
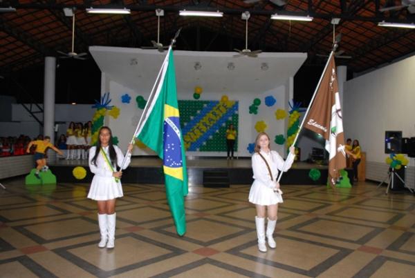
MULTIPOLYGON (((106 77, 104 77, 106 78, 106 77)), ((118 106, 120 108, 120 117, 118 119, 113 119, 113 117, 106 117, 105 124, 108 125, 113 131, 113 135, 118 137, 120 143, 119 146, 124 150, 131 139, 134 130, 136 129, 138 119, 141 115, 142 110, 137 108, 136 97, 142 95, 145 99, 148 99, 148 94, 143 93, 138 94, 131 88, 124 87, 115 81, 104 81, 102 84, 107 84, 107 92, 110 92, 110 98, 112 99, 111 104, 118 106), (121 96, 128 93, 131 97, 130 103, 122 103, 121 96)), ((287 83, 289 86, 290 83, 287 83)), ((265 92, 252 92, 251 94, 247 93, 237 93, 237 92, 210 92, 209 88, 203 88, 203 93, 201 94, 200 100, 215 100, 218 101, 223 95, 227 95, 230 100, 239 101, 239 135, 238 135, 238 153, 239 157, 250 157, 248 150, 248 143, 253 143, 255 137, 257 136, 257 131, 255 130, 255 123, 257 121, 264 120, 268 126, 266 132, 269 133, 272 141, 275 138, 275 135, 284 134, 286 136, 286 121, 275 119, 275 111, 278 108, 286 109, 288 106, 288 100, 286 96, 292 95, 292 90, 286 88, 286 86, 279 86, 273 90, 268 90, 265 92), (277 102, 274 106, 268 107, 265 105, 265 97, 268 95, 273 95, 277 102), (249 114, 249 106, 253 103, 255 98, 261 99, 261 106, 259 106, 258 114, 251 115, 249 114)), ((193 91, 190 92, 178 92, 179 100, 192 100, 193 91)), ((273 149, 278 152, 284 153, 284 146, 279 146, 276 143, 273 143, 273 149)), ((226 152, 186 152, 187 156, 226 156, 226 152)), ((134 148, 133 155, 154 155, 150 150, 141 150, 139 148, 134 148)))

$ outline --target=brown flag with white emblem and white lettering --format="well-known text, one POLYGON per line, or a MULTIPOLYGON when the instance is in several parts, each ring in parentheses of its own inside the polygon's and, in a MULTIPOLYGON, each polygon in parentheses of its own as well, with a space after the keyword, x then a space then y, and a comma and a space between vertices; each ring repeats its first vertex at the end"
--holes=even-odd
POLYGON ((304 121, 304 127, 326 139, 325 148, 329 152, 329 179, 334 186, 340 177, 340 170, 346 168, 346 152, 335 62, 333 55, 330 57, 326 71, 323 72, 320 88, 304 121))

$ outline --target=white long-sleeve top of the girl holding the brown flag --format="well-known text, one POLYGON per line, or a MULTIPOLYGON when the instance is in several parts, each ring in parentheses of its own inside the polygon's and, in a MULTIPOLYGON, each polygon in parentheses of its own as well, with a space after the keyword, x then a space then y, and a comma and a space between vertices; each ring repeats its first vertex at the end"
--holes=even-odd
POLYGON ((284 170, 284 172, 288 171, 288 169, 291 168, 291 166, 293 165, 294 155, 288 155, 285 166, 284 159, 282 159, 282 157, 278 155, 278 152, 276 152, 275 150, 271 150, 268 153, 261 150, 261 155, 268 162, 271 173, 273 174, 273 179, 271 179, 270 177, 270 173, 268 171, 268 167, 266 166, 264 159, 262 159, 262 157, 257 152, 255 152, 255 154, 252 155, 252 171, 254 172, 253 178, 255 179, 255 181, 261 182, 262 184, 264 184, 264 186, 267 186, 268 188, 274 188, 275 181, 277 181, 278 179, 279 170, 284 170))

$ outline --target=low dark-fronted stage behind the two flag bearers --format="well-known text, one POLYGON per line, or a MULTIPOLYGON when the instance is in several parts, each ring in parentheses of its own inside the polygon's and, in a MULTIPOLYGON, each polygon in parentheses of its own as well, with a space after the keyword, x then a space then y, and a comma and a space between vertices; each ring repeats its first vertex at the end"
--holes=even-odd
MULTIPOLYGON (((48 163, 50 170, 56 175, 58 182, 68 183, 89 183, 93 174, 89 172, 88 162, 86 160, 65 160, 59 159, 48 163), (86 168, 87 175, 85 179, 78 180, 73 177, 72 170, 76 166, 86 168)), ((133 157, 129 168, 123 171, 123 183, 164 183, 163 164, 158 157, 133 157)), ((352 175, 352 169, 346 169, 349 177, 352 175)), ((282 176, 282 184, 310 185, 326 184, 327 166, 296 162, 291 170, 282 176), (318 169, 321 172, 320 179, 313 181, 308 177, 311 169, 318 169)), ((250 157, 227 160, 225 158, 210 157, 187 157, 187 175, 190 184, 202 185, 203 175, 222 173, 227 175, 230 184, 251 184, 252 168, 250 157)), ((351 181, 353 184, 353 181, 351 181)))

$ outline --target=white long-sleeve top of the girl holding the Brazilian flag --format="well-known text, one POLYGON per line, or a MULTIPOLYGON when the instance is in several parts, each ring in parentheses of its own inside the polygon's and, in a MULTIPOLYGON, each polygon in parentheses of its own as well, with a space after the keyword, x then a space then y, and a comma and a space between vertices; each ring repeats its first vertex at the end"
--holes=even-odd
MULTIPOLYGON (((118 148, 118 146, 113 146, 113 147, 116 150, 116 154, 117 154, 117 165, 118 167, 121 167, 122 160, 124 160, 124 155, 122 154, 122 151, 120 150, 120 148, 118 148)), ((92 159, 95 156, 96 148, 97 148, 96 146, 93 146, 89 149, 89 169, 91 170, 91 172, 93 172, 97 176, 112 177, 113 170, 111 170, 107 161, 105 161, 105 158, 101 153, 97 157, 97 161, 96 161, 97 166, 95 166, 95 164, 92 163, 92 159)), ((111 159, 109 158, 109 146, 102 147, 102 149, 107 154, 107 157, 111 163, 111 159)), ((127 154, 127 159, 125 159, 124 167, 122 168, 122 170, 127 168, 130 162, 131 162, 131 153, 129 152, 127 154)), ((113 165, 113 169, 116 170, 115 165, 113 165)))

